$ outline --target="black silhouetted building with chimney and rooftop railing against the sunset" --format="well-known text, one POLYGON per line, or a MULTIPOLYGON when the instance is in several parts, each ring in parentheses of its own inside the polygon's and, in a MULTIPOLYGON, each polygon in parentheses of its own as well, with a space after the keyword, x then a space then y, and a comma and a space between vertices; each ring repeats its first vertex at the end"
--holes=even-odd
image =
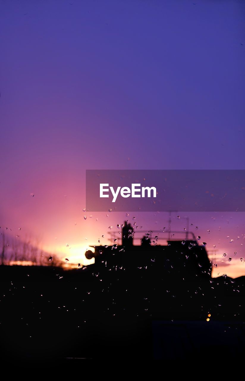
MULTIPOLYGON (((162 231, 161 231, 162 233, 162 231)), ((173 233, 173 232, 172 232, 173 233)), ((174 232, 172 237, 176 237, 174 232)), ((141 245, 134 245, 134 229, 127 221, 122 225, 122 245, 117 245, 117 239, 111 246, 94 246, 95 253, 86 252, 86 258, 95 258, 95 265, 109 267, 121 266, 123 268, 148 269, 148 274, 160 275, 165 278, 195 277, 210 278, 212 264, 210 263, 204 245, 199 245, 192 232, 185 232, 185 238, 167 239, 167 245, 159 245, 159 235, 151 237, 153 231, 148 231, 141 239, 141 245), (192 239, 189 239, 192 235, 192 239), (152 241, 151 241, 152 239, 152 241)), ((169 231, 167 231, 169 234, 169 231)), ((170 236, 170 235, 169 235, 170 236)))

